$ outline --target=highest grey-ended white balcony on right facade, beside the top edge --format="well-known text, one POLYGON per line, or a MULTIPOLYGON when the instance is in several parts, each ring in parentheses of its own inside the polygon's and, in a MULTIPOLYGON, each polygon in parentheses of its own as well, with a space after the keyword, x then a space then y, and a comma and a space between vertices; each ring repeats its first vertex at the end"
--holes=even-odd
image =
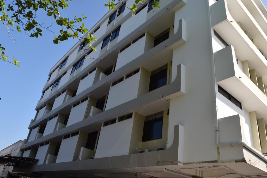
POLYGON ((257 75, 262 76, 264 83, 267 83, 267 60, 258 50, 267 54, 267 38, 246 7, 241 1, 220 0, 210 6, 210 11, 212 28, 229 45, 234 46, 237 58, 242 62, 247 60, 250 67, 256 69, 257 75))

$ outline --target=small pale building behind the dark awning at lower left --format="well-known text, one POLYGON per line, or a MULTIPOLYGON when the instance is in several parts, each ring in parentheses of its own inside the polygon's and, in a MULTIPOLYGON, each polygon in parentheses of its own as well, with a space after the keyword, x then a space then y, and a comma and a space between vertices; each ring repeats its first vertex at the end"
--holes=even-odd
MULTIPOLYGON (((21 156, 22 150, 22 140, 17 141, 16 143, 9 145, 8 147, 0 151, 0 156, 21 156)), ((0 178, 8 177, 9 172, 12 172, 13 166, 9 164, 0 164, 0 178)))

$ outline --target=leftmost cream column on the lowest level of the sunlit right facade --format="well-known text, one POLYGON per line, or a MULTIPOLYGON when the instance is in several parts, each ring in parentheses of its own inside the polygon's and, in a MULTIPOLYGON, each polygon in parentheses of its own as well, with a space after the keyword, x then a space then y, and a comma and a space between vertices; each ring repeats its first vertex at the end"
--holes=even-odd
POLYGON ((250 112, 249 118, 250 118, 251 132, 252 132, 252 138, 253 138, 253 147, 259 152, 261 152, 260 136, 258 132, 256 112, 255 111, 250 112))

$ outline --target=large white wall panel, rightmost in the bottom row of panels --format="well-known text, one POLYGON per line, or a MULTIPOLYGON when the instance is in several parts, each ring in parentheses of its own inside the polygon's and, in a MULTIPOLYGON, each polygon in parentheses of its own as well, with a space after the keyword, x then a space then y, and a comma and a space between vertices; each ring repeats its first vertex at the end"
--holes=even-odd
POLYGON ((101 128, 95 158, 128 155, 133 118, 101 128))

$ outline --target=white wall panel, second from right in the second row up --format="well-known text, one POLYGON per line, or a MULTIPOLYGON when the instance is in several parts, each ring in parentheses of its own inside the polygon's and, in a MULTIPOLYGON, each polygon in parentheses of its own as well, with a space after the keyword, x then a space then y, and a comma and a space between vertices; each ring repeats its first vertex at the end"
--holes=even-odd
POLYGON ((84 119, 85 112, 87 111, 88 101, 89 99, 71 109, 67 126, 75 124, 76 122, 84 119))

